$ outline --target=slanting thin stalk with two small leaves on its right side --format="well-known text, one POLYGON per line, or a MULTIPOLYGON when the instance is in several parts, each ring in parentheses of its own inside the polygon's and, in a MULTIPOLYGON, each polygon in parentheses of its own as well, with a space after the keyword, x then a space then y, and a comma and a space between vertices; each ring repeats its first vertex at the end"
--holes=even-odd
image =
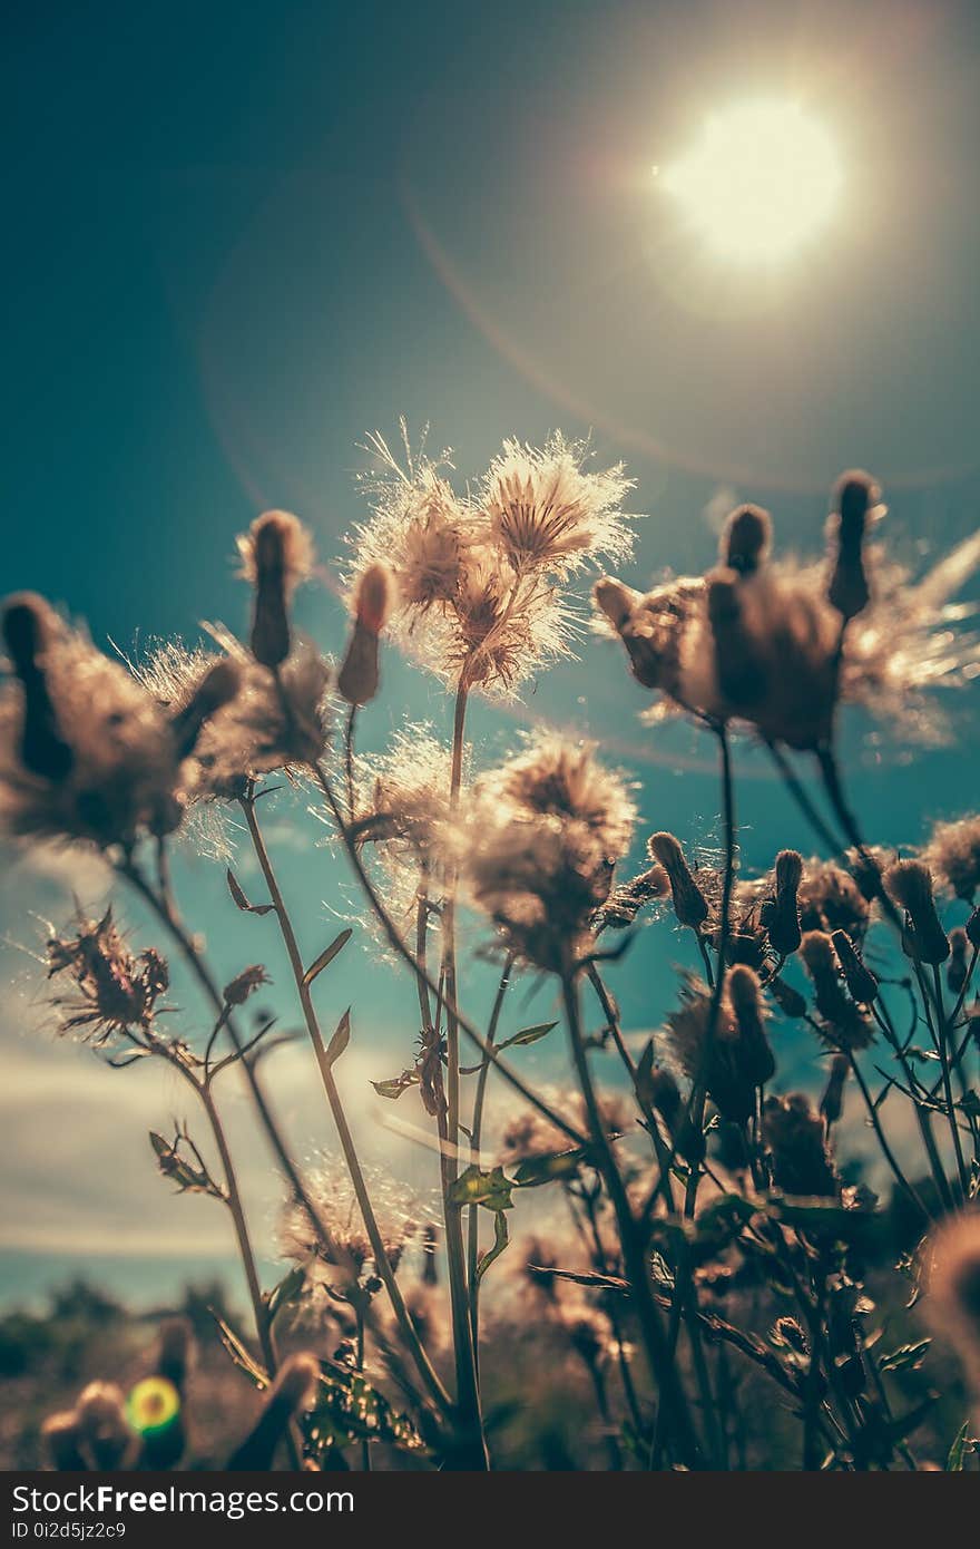
POLYGON ((283 945, 286 948, 286 956, 290 959, 290 968, 293 970, 293 979, 296 982, 296 993, 299 996, 303 1021, 307 1024, 307 1033, 310 1035, 310 1042, 313 1044, 313 1052, 316 1055, 316 1063, 320 1072, 320 1081, 324 1084, 324 1092, 327 1095, 330 1114, 333 1117, 334 1128, 338 1131, 338 1139, 341 1142, 341 1149, 344 1152, 344 1160, 347 1163, 347 1171, 350 1173, 350 1180, 355 1188, 358 1208, 361 1210, 361 1216, 364 1219, 364 1230, 367 1231, 367 1238, 372 1245, 372 1253, 375 1256, 375 1269, 378 1270, 378 1276, 382 1279, 384 1289, 389 1293, 392 1310, 395 1312, 395 1318, 398 1321, 398 1329, 401 1332, 403 1340, 406 1341, 412 1360, 415 1362, 415 1366, 418 1368, 420 1377, 423 1379, 435 1403, 441 1410, 446 1410, 449 1406, 449 1396, 443 1388, 443 1385, 440 1383, 432 1368, 432 1363, 426 1355, 426 1351, 418 1337, 415 1324, 412 1323, 412 1317, 409 1314, 409 1309, 406 1307, 404 1297, 401 1295, 401 1287, 398 1286, 395 1270, 392 1269, 392 1261, 384 1245, 384 1238, 381 1236, 381 1230, 378 1227, 378 1218, 375 1216, 375 1208, 372 1205, 370 1193, 364 1179, 364 1169, 361 1168, 358 1148, 355 1146, 350 1125, 347 1123, 347 1114, 344 1109, 344 1103, 341 1100, 341 1094, 338 1090, 331 1063, 327 1058, 327 1046, 324 1042, 319 1018, 313 1005, 313 994, 310 985, 307 984, 302 954, 299 950, 299 943, 296 940, 296 931, 293 929, 293 920, 290 919, 290 911, 282 895, 282 889, 279 888, 279 878, 276 877, 276 871, 269 860, 265 838, 259 826, 259 818, 255 815, 255 802, 254 799, 246 798, 242 801, 240 805, 245 813, 245 821, 248 824, 248 832, 252 840, 255 858, 259 860, 262 875, 265 878, 266 888, 269 889, 269 900, 272 903, 276 919, 279 920, 279 929, 283 939, 283 945))

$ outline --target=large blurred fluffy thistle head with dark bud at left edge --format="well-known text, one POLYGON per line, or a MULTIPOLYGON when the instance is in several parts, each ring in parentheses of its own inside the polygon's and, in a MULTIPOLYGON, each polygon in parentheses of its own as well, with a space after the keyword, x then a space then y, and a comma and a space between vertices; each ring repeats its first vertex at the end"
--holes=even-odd
POLYGON ((5 604, 3 638, 0 827, 102 849, 175 829, 180 747, 146 689, 31 593, 5 604))

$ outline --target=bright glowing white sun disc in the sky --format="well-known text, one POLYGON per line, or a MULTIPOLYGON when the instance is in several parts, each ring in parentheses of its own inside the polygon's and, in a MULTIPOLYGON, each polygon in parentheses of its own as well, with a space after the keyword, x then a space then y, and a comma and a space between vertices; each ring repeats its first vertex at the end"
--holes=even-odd
POLYGON ((721 257, 768 263, 825 225, 841 169, 822 124, 766 99, 712 115, 661 181, 721 257))

